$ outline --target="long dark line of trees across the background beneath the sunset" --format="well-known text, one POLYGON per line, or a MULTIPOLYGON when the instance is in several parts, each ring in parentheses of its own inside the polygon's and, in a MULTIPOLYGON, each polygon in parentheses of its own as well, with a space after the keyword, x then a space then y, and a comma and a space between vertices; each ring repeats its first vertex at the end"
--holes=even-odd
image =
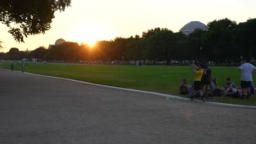
POLYGON ((208 22, 208 31, 195 29, 185 35, 167 28, 149 29, 130 38, 98 41, 94 47, 66 42, 50 49, 38 47, 26 52, 10 49, 0 53, 1 59, 37 58, 43 61, 139 61, 147 64, 172 60, 238 62, 240 57, 256 55, 256 19, 236 23, 230 19, 208 22))

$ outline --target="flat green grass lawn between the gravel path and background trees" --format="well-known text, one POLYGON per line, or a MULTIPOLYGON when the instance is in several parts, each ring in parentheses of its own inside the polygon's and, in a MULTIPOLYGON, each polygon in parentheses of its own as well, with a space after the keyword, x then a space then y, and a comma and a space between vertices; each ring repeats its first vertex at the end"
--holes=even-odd
MULTIPOLYGON (((3 69, 10 69, 10 63, 2 65, 3 69)), ((240 86, 241 71, 237 68, 212 67, 213 76, 217 77, 218 86, 225 84, 227 77, 240 86)), ((21 71, 21 63, 14 65, 14 70, 21 71)), ((28 63, 26 72, 64 77, 68 79, 100 83, 103 85, 140 89, 144 91, 160 92, 180 95, 179 84, 183 78, 191 83, 194 74, 190 67, 170 66, 126 66, 126 65, 67 65, 28 63)), ((187 95, 181 95, 187 97, 187 95)), ((232 104, 256 105, 256 97, 237 99, 230 97, 214 97, 211 101, 232 104)))

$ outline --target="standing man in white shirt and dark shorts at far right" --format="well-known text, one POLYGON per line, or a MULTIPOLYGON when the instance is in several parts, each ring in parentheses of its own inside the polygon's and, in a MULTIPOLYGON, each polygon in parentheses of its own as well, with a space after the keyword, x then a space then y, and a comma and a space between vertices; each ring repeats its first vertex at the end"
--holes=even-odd
POLYGON ((242 70, 242 77, 241 77, 241 88, 242 88, 242 96, 243 99, 245 96, 248 99, 249 94, 251 93, 251 83, 252 83, 252 75, 256 73, 256 67, 252 65, 249 58, 245 59, 245 63, 242 64, 238 70, 242 70), (247 89, 247 95, 245 95, 245 91, 247 89))

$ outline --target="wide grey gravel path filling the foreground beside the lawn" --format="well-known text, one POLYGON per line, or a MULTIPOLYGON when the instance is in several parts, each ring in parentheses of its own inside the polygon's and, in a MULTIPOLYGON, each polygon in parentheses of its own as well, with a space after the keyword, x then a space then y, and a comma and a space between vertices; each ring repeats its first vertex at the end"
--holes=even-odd
POLYGON ((0 143, 255 143, 256 110, 0 70, 0 143))

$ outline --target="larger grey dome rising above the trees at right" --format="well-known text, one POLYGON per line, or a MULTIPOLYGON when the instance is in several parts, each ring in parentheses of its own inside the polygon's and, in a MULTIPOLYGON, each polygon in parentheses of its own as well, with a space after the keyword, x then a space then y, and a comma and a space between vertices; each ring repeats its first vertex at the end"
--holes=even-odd
POLYGON ((200 21, 191 21, 187 23, 187 25, 183 26, 179 32, 183 32, 184 34, 190 34, 194 32, 196 28, 202 29, 203 31, 207 31, 208 27, 200 21))

